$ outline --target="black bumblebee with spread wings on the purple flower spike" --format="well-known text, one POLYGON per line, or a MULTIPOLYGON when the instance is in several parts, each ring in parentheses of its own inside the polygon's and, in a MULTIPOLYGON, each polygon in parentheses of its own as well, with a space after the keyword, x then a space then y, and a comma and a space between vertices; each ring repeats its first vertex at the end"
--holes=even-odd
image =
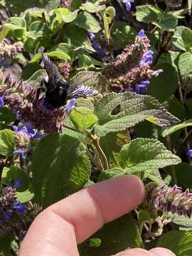
POLYGON ((43 63, 46 73, 48 74, 48 80, 45 80, 45 100, 48 107, 57 108, 65 105, 69 99, 97 95, 97 90, 86 85, 75 83, 70 85, 68 80, 65 80, 63 76, 60 75, 55 63, 45 54, 43 54, 43 63))

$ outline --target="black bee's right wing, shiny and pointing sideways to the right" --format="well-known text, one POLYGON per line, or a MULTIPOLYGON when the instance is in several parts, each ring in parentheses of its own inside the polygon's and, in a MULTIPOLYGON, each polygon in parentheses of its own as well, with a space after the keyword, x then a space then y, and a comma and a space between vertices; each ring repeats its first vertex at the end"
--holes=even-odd
POLYGON ((97 90, 82 84, 72 84, 68 89, 68 98, 87 97, 97 95, 97 90))

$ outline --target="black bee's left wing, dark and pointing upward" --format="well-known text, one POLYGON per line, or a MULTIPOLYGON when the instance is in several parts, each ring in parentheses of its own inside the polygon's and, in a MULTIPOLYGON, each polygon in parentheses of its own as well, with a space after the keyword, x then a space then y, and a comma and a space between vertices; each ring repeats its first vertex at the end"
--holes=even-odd
POLYGON ((48 73, 48 81, 50 82, 50 85, 54 86, 60 75, 58 67, 50 60, 50 58, 48 58, 46 54, 43 54, 43 64, 46 72, 48 73))

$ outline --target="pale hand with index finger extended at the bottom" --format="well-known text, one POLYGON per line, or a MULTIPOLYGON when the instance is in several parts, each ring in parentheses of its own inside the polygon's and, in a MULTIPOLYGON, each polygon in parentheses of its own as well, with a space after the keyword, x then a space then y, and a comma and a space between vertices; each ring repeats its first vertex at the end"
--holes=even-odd
MULTIPOLYGON (((54 191, 53 191, 54 193, 54 191)), ((77 244, 144 199, 144 186, 136 176, 120 176, 74 193, 43 210, 21 243, 19 256, 78 256, 77 244)), ((176 256, 165 248, 139 248, 117 256, 176 256)))

